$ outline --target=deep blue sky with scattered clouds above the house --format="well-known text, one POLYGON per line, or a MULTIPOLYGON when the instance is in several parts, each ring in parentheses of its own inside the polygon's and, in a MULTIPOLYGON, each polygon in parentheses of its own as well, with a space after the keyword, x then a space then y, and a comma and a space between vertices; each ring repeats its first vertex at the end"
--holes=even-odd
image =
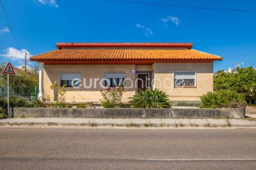
POLYGON ((193 49, 224 57, 215 62, 215 72, 236 62, 256 67, 255 0, 131 0, 255 12, 105 0, 1 1, 11 28, 0 8, 0 62, 16 67, 24 63, 24 52, 55 50, 56 42, 193 42, 193 49))

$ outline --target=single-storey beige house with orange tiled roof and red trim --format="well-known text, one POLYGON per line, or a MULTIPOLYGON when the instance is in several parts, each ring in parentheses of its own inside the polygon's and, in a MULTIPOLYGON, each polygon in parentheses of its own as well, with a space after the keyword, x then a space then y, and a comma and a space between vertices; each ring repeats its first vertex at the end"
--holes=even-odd
POLYGON ((53 101, 50 85, 66 85, 66 101, 100 101, 101 90, 124 86, 123 101, 158 88, 171 101, 200 101, 213 91, 213 62, 221 57, 193 50, 193 43, 57 43, 31 57, 39 62, 39 97, 53 101))

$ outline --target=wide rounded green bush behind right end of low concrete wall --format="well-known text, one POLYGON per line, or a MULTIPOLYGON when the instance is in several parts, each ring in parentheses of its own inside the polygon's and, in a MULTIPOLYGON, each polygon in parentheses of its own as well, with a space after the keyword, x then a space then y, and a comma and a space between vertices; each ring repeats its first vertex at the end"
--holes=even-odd
POLYGON ((200 98, 200 108, 245 108, 246 105, 245 95, 235 91, 208 92, 200 98))

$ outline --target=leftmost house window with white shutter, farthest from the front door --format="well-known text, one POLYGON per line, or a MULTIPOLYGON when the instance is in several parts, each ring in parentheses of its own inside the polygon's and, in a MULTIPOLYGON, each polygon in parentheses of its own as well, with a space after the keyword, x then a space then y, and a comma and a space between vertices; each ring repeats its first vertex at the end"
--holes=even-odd
MULTIPOLYGON (((67 85, 67 87, 73 87, 72 81, 73 79, 81 79, 81 74, 79 73, 70 73, 70 74, 60 74, 60 86, 67 85)), ((74 86, 80 86, 80 83, 78 80, 74 81, 74 86)))

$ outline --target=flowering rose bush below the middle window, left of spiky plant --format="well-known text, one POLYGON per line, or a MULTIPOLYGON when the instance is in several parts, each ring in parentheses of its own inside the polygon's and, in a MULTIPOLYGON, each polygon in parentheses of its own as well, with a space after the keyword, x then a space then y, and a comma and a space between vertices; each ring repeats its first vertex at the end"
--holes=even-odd
POLYGON ((100 99, 104 108, 116 108, 122 106, 122 95, 124 87, 107 88, 106 91, 101 91, 102 99, 100 99))

